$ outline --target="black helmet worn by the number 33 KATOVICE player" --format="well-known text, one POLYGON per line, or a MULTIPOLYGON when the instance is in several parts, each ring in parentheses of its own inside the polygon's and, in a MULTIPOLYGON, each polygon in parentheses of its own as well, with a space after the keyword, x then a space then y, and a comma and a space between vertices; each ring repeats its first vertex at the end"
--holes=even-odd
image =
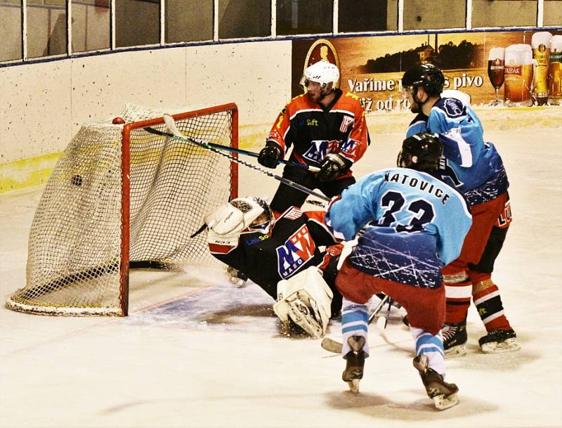
POLYGON ((437 134, 420 132, 403 141, 396 164, 401 168, 418 171, 437 171, 441 155, 443 145, 437 134))

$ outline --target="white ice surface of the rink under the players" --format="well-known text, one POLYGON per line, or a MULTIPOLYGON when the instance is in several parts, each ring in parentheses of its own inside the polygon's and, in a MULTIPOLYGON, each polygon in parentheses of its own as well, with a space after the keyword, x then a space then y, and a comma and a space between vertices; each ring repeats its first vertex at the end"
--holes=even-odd
MULTIPOLYGON (((318 339, 280 335, 270 297, 251 283, 230 286, 218 266, 132 272, 125 318, 6 309, 25 285, 42 190, 32 188, 0 195, 0 427, 561 427, 561 129, 485 137, 511 182, 514 222, 495 282, 521 351, 481 354, 485 330, 472 306, 468 354, 446 361, 458 406, 439 412, 427 398, 400 311, 386 330, 370 326, 371 357, 352 394, 340 356, 318 339)), ((372 132, 355 175, 393 166, 402 138, 372 132)), ((277 187, 246 167, 240 174, 240 195, 270 197, 277 187)), ((328 336, 338 339, 339 327, 332 322, 328 336)))

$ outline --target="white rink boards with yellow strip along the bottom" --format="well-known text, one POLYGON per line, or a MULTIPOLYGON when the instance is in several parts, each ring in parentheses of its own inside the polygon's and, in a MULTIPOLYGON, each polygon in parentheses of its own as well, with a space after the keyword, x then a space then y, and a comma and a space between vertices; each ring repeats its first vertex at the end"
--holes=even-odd
MULTIPOLYGON (((124 103, 163 111, 234 102, 240 143, 256 147, 291 98, 292 41, 177 46, 0 68, 0 193, 46 183, 81 124, 124 103)), ((344 88, 346 89, 346 88, 344 88)), ((478 108, 476 108, 478 110, 478 108)), ((495 108, 485 129, 560 128, 561 108, 495 108)), ((402 133, 409 112, 367 115, 377 134, 402 133)), ((384 142, 383 142, 384 143, 384 142)))

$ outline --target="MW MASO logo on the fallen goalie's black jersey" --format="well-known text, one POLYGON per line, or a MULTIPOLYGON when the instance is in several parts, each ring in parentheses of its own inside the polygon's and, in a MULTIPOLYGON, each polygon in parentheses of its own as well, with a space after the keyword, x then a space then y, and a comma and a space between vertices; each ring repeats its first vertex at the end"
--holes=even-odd
POLYGON ((298 231, 289 236, 285 245, 280 245, 275 249, 277 271, 280 277, 285 279, 289 275, 293 275, 313 258, 315 249, 311 234, 308 232, 306 224, 303 224, 298 231))

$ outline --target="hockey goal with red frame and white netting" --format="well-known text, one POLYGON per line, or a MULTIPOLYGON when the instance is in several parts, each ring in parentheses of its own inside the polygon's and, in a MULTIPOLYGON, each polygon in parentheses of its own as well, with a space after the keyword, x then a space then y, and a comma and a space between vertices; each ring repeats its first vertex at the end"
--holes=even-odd
MULTIPOLYGON (((10 309, 126 316, 129 268, 211 263, 211 209, 237 196, 237 164, 171 138, 163 112, 126 105, 126 124, 79 130, 53 169, 29 238, 27 285, 10 309)), ((186 136, 237 148, 235 104, 172 115, 186 136)))

